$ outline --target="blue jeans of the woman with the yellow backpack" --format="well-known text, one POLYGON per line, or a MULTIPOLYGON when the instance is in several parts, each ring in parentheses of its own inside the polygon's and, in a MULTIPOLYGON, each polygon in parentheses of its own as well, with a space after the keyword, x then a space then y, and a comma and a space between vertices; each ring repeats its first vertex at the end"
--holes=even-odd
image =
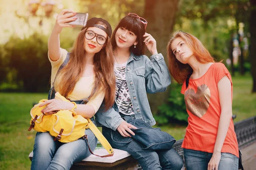
MULTIPOLYGON (((85 130, 90 149, 93 151, 97 139, 90 129, 85 130)), ((38 132, 35 136, 31 170, 69 170, 75 162, 91 155, 87 141, 79 138, 70 143, 53 141, 49 132, 38 132)))

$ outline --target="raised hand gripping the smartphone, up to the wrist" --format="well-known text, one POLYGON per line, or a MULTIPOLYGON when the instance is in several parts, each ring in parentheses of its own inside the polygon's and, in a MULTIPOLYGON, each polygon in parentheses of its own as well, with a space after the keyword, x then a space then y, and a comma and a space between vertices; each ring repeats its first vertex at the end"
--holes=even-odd
POLYGON ((75 15, 76 15, 76 12, 73 12, 71 9, 63 9, 56 18, 55 26, 52 32, 60 34, 62 28, 64 27, 75 27, 73 25, 65 24, 67 22, 76 20, 77 17, 73 17, 75 15), (70 12, 70 13, 67 13, 67 12, 70 12))

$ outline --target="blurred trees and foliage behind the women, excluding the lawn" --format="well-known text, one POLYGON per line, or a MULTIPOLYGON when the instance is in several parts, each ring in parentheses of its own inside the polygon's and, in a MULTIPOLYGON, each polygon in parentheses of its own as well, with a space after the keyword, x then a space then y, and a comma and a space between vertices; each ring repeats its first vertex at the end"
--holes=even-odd
MULTIPOLYGON (((39 0, 48 2, 47 0, 39 0)), ((38 2, 39 2, 38 1, 38 2)), ((43 7, 36 14, 28 11, 30 0, 0 1, 0 91, 47 92, 51 66, 47 58, 47 39, 61 9, 87 12, 90 17, 103 17, 113 29, 129 12, 148 20, 146 32, 157 40, 159 53, 166 56, 166 45, 180 29, 198 37, 233 76, 246 72, 253 76, 256 91, 255 56, 250 52, 250 18, 255 3, 249 0, 55 0, 54 9, 46 16, 43 7), (254 67, 253 67, 254 66, 254 67)), ((35 0, 33 1, 35 2, 35 0)), ((53 2, 52 0, 50 2, 53 2)), ((80 28, 61 32, 61 47, 72 47, 80 28)), ((254 33, 255 34, 255 33, 254 33)), ((254 36, 255 39, 255 36, 254 36)), ((253 44, 255 48, 255 44, 253 44)), ((253 47, 251 47, 253 49, 253 47)), ((149 54, 148 54, 149 56, 149 54)), ((166 62, 168 62, 167 58, 166 62)), ((180 85, 174 80, 164 93, 148 95, 158 124, 187 121, 180 85)), ((249 88, 249 87, 248 87, 249 88)))

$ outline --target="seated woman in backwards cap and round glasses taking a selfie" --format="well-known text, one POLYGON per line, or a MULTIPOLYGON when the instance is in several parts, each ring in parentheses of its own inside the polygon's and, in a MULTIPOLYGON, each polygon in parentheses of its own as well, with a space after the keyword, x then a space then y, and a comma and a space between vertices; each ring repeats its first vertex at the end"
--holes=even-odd
MULTIPOLYGON (((115 75, 110 43, 112 30, 106 20, 91 18, 79 32, 73 49, 68 53, 60 48, 59 34, 62 28, 73 27, 65 23, 76 20, 74 15, 74 12, 67 9, 58 14, 49 37, 48 57, 52 64, 52 89, 48 99, 51 100, 41 105, 47 105, 41 112, 74 108, 73 103, 54 99, 55 92, 60 92, 64 97, 77 103, 78 115, 92 120, 103 100, 105 109, 109 109, 114 103, 115 75), (87 102, 88 97, 90 99, 87 102)), ((85 130, 85 134, 90 149, 94 150, 97 144, 95 135, 90 129, 85 130)), ((36 134, 32 170, 69 170, 73 163, 91 154, 87 141, 82 138, 70 143, 61 143, 53 139, 49 132, 36 134)))

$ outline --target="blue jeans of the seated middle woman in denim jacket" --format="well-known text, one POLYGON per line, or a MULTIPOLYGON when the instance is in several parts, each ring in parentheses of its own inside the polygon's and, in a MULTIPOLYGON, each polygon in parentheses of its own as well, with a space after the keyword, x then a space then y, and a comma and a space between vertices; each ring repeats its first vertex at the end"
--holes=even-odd
MULTIPOLYGON (((128 123, 136 121, 135 117, 125 116, 124 118, 128 123)), ((140 124, 140 127, 147 128, 148 126, 145 122, 140 124)), ((107 127, 102 127, 102 133, 113 148, 130 153, 143 170, 180 170, 183 166, 181 157, 173 148, 157 151, 145 150, 143 149, 145 146, 139 141, 130 137, 123 137, 117 130, 113 131, 107 127)))

